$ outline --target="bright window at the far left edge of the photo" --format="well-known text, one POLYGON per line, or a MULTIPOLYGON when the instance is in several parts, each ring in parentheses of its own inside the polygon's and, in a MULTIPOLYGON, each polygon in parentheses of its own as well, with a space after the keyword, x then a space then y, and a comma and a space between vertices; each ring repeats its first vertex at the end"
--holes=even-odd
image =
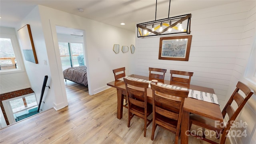
POLYGON ((14 44, 11 38, 0 38, 0 70, 18 68, 14 44))

